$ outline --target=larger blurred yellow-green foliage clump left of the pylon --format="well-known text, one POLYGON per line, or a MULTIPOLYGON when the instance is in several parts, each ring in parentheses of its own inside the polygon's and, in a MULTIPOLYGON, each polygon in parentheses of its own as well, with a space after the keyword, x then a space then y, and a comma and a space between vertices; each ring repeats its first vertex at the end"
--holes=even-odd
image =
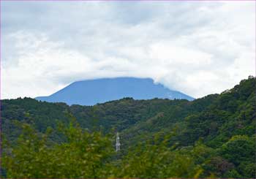
POLYGON ((3 166, 7 178, 105 178, 109 175, 108 160, 113 147, 100 132, 83 131, 77 123, 63 129, 67 142, 48 141, 46 134, 37 134, 23 125, 18 144, 4 153, 3 166))

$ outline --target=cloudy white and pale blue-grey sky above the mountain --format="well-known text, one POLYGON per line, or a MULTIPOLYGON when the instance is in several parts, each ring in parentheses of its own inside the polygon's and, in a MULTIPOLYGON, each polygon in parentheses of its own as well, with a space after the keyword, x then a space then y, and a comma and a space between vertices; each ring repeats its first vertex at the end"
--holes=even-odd
POLYGON ((1 99, 151 77, 200 98, 255 75, 255 1, 1 1, 1 99))

